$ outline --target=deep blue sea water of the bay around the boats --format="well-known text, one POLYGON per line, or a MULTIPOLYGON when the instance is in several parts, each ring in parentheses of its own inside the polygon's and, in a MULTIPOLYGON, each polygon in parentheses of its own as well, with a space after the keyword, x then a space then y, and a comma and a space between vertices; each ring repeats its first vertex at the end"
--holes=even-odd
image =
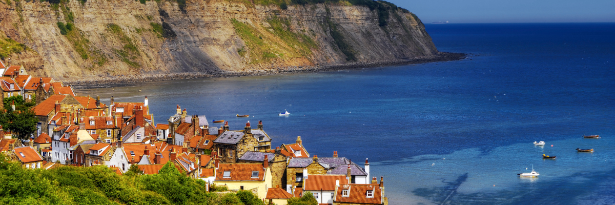
POLYGON ((105 103, 111 95, 126 102, 147 95, 156 123, 167 123, 177 104, 189 115, 228 120, 231 129, 262 120, 274 144, 301 135, 311 155, 369 158, 391 204, 615 204, 615 23, 427 31, 441 51, 476 55, 77 92, 105 103), (277 116, 285 109, 292 115, 277 116), (532 165, 538 179, 517 177, 532 165))

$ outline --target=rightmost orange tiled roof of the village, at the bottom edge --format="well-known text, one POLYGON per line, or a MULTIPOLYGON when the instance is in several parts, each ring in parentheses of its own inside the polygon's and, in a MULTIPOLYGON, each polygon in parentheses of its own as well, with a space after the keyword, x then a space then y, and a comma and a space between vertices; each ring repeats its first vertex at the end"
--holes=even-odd
MULTIPOLYGON (((312 177, 311 175, 309 177, 312 177)), ((344 184, 340 185, 335 196, 335 202, 354 204, 382 204, 382 190, 378 184, 344 184), (348 196, 342 196, 343 190, 348 190, 348 196), (368 198, 367 191, 373 196, 368 198)))

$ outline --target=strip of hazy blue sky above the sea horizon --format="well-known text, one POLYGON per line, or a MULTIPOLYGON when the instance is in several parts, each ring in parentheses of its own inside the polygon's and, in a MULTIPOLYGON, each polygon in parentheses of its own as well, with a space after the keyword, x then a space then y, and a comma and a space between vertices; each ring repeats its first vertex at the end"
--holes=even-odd
POLYGON ((386 0, 423 23, 615 22, 615 0, 386 0))

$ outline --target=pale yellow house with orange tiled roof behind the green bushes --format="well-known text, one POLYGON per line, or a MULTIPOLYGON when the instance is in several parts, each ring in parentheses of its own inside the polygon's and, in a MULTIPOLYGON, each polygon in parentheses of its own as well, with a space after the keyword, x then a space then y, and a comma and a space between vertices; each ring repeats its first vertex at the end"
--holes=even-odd
POLYGON ((213 183, 226 185, 229 190, 250 190, 265 199, 271 188, 271 169, 269 161, 255 163, 220 163, 213 183))

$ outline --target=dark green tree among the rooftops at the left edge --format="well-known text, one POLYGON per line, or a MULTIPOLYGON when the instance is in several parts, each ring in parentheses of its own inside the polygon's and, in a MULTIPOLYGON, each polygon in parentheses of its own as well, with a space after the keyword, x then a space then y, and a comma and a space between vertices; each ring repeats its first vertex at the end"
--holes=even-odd
POLYGON ((18 139, 26 139, 36 131, 38 118, 30 110, 34 103, 25 103, 21 95, 4 98, 4 110, 0 113, 0 124, 5 130, 13 132, 18 139), (15 104, 15 111, 12 108, 15 104))

